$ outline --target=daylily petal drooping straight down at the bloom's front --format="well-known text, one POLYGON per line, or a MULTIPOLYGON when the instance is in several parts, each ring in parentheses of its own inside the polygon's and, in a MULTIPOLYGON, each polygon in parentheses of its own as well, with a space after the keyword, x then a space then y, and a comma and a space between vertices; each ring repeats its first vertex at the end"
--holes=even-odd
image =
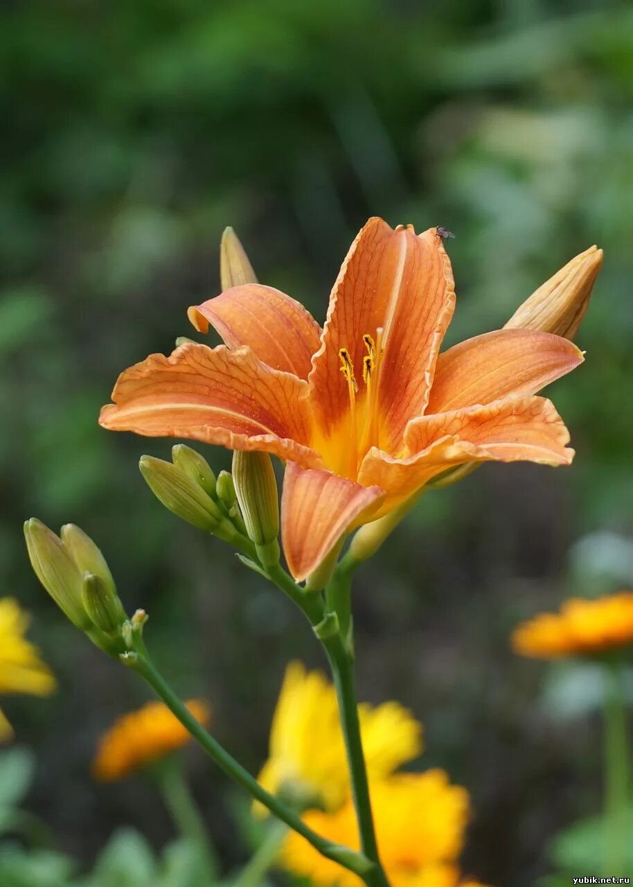
POLYGON ((297 582, 314 572, 343 533, 369 517, 385 493, 329 471, 285 467, 281 539, 288 569, 297 582))

